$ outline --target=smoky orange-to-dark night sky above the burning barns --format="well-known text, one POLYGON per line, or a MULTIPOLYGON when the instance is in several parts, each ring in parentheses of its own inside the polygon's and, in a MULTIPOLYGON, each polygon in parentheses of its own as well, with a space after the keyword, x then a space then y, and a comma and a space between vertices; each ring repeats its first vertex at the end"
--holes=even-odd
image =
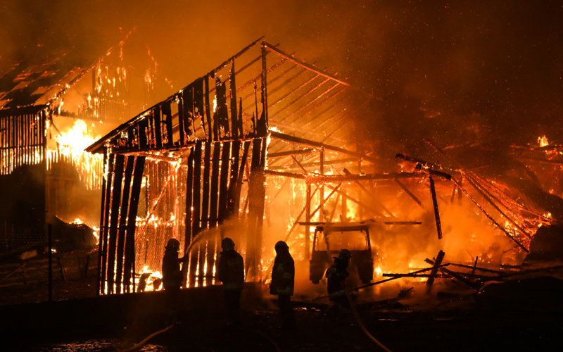
POLYGON ((0 8, 0 66, 37 50, 99 56, 136 26, 183 87, 243 46, 317 61, 381 100, 369 135, 563 143, 562 1, 13 1, 0 8), (40 46, 39 46, 40 45, 40 46))

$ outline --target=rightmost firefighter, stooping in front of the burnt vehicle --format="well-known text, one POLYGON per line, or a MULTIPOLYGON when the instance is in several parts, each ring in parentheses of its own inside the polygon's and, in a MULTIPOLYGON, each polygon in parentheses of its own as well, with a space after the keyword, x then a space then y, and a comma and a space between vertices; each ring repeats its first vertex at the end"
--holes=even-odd
POLYGON ((327 270, 327 291, 329 292, 329 300, 334 302, 327 315, 333 317, 334 314, 343 315, 350 312, 350 302, 346 296, 346 277, 348 273, 348 265, 350 264, 352 253, 348 249, 340 251, 339 256, 334 258, 334 264, 327 270))

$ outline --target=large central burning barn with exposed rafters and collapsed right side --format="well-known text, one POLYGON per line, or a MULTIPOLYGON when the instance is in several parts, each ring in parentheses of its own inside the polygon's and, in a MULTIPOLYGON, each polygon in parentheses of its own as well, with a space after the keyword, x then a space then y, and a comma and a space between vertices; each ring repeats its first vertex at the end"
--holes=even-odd
MULTIPOLYGON (((363 282, 423 268, 442 249, 474 268, 520 265, 552 207, 429 141, 428 157, 441 163, 399 153, 386 165, 355 125, 374 100, 261 38, 91 144, 104 160, 99 293, 134 292, 143 274, 158 283, 171 238, 189 253, 186 287, 215 284, 222 237, 235 239, 248 280, 262 283, 274 243, 287 241, 302 286, 319 292, 307 282, 330 261, 309 265, 312 251, 330 251, 322 232, 362 232, 332 250, 369 246, 363 282)), ((463 275, 445 277, 479 278, 463 275)))

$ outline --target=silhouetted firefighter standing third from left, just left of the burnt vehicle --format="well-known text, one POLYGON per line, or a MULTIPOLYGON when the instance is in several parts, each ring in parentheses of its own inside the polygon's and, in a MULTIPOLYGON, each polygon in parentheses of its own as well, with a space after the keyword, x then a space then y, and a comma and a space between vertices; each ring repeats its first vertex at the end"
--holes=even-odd
POLYGON ((276 259, 272 268, 272 284, 270 294, 277 294, 279 313, 281 314, 282 329, 295 329, 295 315, 291 307, 291 296, 295 283, 295 263, 289 253, 289 246, 279 241, 274 247, 276 259))

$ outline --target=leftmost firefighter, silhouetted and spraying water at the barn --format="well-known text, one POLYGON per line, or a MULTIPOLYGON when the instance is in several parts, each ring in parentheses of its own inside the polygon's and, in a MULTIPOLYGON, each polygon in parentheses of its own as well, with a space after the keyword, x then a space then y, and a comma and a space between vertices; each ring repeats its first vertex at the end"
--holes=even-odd
POLYGON ((165 246, 163 258, 163 287, 165 290, 165 309, 167 313, 172 315, 176 310, 176 303, 180 287, 182 286, 182 270, 180 263, 184 261, 184 257, 178 258, 178 249, 180 243, 177 239, 169 239, 165 246))

